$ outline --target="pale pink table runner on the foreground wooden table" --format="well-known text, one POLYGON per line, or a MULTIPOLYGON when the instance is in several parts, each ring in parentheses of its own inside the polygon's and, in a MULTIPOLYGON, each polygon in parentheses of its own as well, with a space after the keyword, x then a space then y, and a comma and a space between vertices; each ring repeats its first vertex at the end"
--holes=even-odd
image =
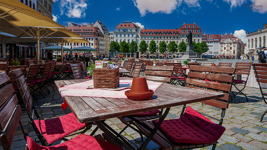
MULTIPOLYGON (((132 80, 120 80, 120 83, 132 83, 132 80)), ((127 98, 124 94, 125 90, 104 90, 104 89, 89 89, 88 86, 92 85, 93 81, 85 81, 70 85, 62 85, 58 88, 61 96, 64 99, 64 96, 84 96, 84 97, 101 97, 101 98, 127 98)), ((162 83, 147 81, 148 88, 155 91, 162 83)), ((65 102, 62 103, 61 108, 65 110, 68 108, 68 104, 65 102)))

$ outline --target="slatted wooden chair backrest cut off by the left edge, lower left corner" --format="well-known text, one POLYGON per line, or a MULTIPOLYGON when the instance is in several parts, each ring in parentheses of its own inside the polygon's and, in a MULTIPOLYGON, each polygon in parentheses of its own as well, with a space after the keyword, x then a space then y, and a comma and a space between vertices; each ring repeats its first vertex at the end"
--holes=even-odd
MULTIPOLYGON (((8 81, 9 77, 5 73, 0 73, 0 79, 1 83, 3 83, 8 81)), ((9 149, 11 147, 22 114, 21 107, 18 105, 17 95, 15 95, 14 92, 15 90, 12 84, 0 90, 0 103, 3 103, 0 107, 0 141, 4 149, 9 149), (2 95, 5 96, 2 97, 2 95)))

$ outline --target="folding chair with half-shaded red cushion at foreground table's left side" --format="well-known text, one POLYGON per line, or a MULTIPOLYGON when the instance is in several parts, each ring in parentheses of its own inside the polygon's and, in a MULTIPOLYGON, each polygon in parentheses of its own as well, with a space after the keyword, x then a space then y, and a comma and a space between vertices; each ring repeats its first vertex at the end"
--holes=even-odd
POLYGON ((41 120, 36 109, 32 105, 32 97, 30 95, 30 90, 28 89, 25 77, 21 74, 22 72, 17 69, 11 71, 11 73, 13 76, 19 76, 18 78, 15 77, 15 80, 19 87, 20 95, 23 98, 23 103, 26 107, 26 111, 30 119, 31 125, 37 135, 36 138, 39 138, 43 146, 46 145, 42 136, 46 139, 47 143, 51 145, 59 139, 67 141, 67 139, 64 137, 73 133, 74 131, 82 129, 85 126, 87 126, 88 128, 82 131, 82 133, 85 133, 87 130, 90 129, 90 127, 92 126, 90 123, 79 123, 73 113, 61 117, 53 117, 51 119, 41 120), (31 111, 33 111, 32 113, 36 116, 37 120, 34 120, 34 115, 31 116, 31 111))

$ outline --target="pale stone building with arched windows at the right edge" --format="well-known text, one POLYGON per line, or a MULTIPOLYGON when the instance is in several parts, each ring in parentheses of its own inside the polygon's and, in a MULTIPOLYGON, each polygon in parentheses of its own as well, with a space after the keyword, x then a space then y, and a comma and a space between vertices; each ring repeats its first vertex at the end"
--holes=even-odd
POLYGON ((254 53, 255 55, 255 53, 258 53, 261 50, 261 47, 267 47, 267 24, 265 23, 263 26, 264 27, 261 30, 259 28, 258 31, 255 32, 249 33, 249 31, 247 31, 247 45, 245 54, 254 53))

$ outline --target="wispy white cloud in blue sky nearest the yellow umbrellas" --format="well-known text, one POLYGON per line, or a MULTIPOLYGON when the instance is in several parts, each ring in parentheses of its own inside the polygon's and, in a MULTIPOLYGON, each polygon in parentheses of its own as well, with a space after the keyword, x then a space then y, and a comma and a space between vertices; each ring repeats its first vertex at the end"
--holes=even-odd
POLYGON ((60 3, 60 15, 65 15, 69 18, 84 18, 87 5, 86 0, 61 0, 60 3))

